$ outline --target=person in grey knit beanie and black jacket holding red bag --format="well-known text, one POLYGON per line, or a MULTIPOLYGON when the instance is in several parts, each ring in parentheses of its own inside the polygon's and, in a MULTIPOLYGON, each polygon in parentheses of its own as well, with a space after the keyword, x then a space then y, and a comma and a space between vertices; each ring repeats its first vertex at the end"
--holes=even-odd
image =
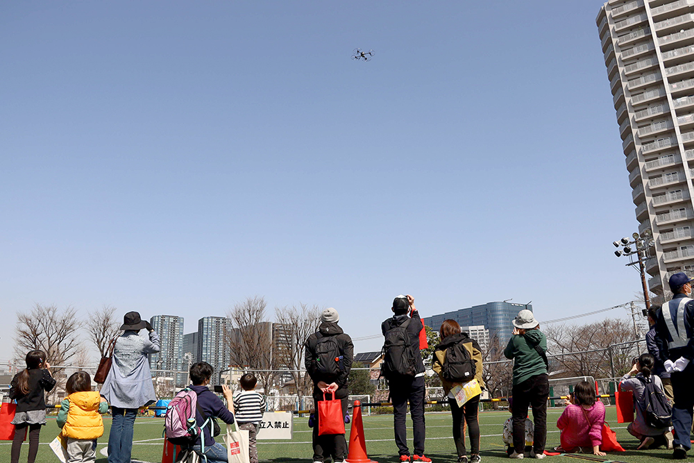
POLYGON ((339 398, 342 403, 342 416, 347 414, 349 389, 347 377, 352 368, 354 346, 352 339, 337 325, 340 316, 334 308, 323 310, 318 331, 306 339, 305 367, 313 380, 313 399, 316 403, 316 420, 313 426, 313 461, 322 463, 324 457, 332 456, 335 463, 344 462, 347 441, 344 434, 318 435, 318 403, 327 398, 339 398))

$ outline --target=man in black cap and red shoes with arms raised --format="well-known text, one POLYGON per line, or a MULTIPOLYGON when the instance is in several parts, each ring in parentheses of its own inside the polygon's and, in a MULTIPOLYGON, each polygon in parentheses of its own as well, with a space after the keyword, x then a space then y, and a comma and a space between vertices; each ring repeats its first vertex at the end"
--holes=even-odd
POLYGON ((393 300, 393 317, 381 323, 381 332, 384 336, 389 330, 402 326, 409 319, 407 335, 412 344, 414 355, 414 376, 397 376, 391 374, 388 380, 390 398, 393 403, 393 426, 395 428, 395 443, 398 446, 401 462, 409 462, 409 448, 407 448, 407 402, 409 401, 409 414, 412 416, 412 431, 414 435, 415 462, 431 462, 424 456, 424 362, 419 353, 419 332, 424 328, 419 312, 414 307, 414 297, 400 295, 393 300), (409 315, 409 317, 408 317, 409 315), (411 318, 410 318, 411 317, 411 318))

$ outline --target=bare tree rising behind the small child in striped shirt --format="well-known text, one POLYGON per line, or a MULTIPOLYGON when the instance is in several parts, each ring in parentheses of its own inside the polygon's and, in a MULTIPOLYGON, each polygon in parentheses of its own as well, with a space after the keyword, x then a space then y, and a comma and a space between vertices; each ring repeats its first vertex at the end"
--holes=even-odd
MULTIPOLYGON (((224 339, 230 360, 238 367, 271 370, 276 365, 272 356, 272 324, 265 319, 267 304, 262 296, 246 298, 227 314, 229 329, 224 339)), ((269 394, 274 374, 257 371, 265 394, 269 394)))

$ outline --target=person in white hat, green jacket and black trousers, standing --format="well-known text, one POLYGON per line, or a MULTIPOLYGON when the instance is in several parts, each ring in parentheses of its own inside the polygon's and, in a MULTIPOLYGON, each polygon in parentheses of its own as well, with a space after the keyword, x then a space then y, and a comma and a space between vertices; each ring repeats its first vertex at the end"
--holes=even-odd
POLYGON ((511 458, 523 458, 525 447, 525 419, 527 407, 532 407, 535 424, 533 448, 530 457, 544 458, 547 438, 547 398, 550 396, 547 364, 547 338, 540 331, 530 310, 521 310, 513 321, 514 330, 504 350, 514 360, 513 436, 514 452, 511 458))

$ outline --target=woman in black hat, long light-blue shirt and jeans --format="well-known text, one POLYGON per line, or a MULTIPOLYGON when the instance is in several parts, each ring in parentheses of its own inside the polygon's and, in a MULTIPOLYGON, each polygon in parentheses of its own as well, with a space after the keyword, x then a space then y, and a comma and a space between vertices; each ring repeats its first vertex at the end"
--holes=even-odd
POLYGON ((124 333, 116 339, 111 369, 101 387, 101 396, 110 403, 113 415, 108 435, 108 463, 130 463, 137 409, 157 400, 149 354, 161 350, 159 335, 137 312, 125 314, 121 330, 124 333), (149 337, 139 334, 143 328, 149 331, 149 337))

